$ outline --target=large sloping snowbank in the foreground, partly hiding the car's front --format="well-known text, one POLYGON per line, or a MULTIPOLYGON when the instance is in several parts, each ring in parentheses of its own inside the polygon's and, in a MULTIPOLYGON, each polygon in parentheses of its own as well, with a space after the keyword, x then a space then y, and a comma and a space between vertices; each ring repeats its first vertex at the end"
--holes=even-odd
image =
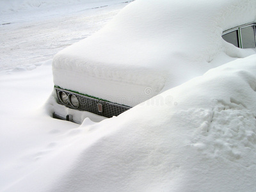
POLYGON ((238 59, 115 118, 84 120, 6 191, 255 191, 255 64, 238 59))

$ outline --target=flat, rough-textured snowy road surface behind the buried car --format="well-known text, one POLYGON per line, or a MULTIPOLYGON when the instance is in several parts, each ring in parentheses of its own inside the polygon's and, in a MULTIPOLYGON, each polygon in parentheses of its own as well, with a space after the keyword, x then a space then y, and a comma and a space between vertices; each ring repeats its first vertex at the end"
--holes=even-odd
POLYGON ((7 13, 2 10, 0 71, 31 70, 42 65, 56 52, 102 28, 127 5, 122 2, 74 4, 68 8, 63 4, 41 9, 25 6, 19 12, 7 13))

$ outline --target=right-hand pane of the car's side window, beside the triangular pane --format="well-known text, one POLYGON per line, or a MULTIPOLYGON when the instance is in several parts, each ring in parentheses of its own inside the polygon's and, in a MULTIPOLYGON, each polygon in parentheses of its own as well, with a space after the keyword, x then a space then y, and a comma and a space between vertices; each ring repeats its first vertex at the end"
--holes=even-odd
POLYGON ((241 28, 241 37, 243 48, 255 48, 254 26, 241 28))

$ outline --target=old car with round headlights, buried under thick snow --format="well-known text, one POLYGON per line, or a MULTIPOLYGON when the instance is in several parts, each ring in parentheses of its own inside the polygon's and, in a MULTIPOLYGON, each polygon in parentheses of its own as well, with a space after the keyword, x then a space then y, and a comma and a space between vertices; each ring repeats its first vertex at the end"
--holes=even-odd
POLYGON ((54 56, 52 116, 77 123, 118 116, 255 54, 255 10, 254 0, 133 1, 100 31, 54 56))

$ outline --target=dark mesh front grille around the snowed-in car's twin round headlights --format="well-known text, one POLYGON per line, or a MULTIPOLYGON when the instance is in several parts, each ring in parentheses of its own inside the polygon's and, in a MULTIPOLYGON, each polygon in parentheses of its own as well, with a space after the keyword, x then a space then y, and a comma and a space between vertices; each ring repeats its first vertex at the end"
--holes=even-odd
POLYGON ((118 116, 124 111, 127 111, 131 108, 129 106, 124 106, 113 102, 109 102, 107 100, 93 98, 88 95, 82 95, 80 93, 75 93, 69 90, 63 90, 57 87, 55 87, 55 91, 59 104, 80 111, 89 111, 97 115, 106 116, 108 118, 112 116, 118 116), (70 99, 68 99, 68 102, 64 103, 60 98, 60 92, 64 92, 68 96, 68 98, 70 98, 71 95, 75 95, 77 100, 79 101, 79 106, 75 107, 74 105, 72 105, 70 99))

